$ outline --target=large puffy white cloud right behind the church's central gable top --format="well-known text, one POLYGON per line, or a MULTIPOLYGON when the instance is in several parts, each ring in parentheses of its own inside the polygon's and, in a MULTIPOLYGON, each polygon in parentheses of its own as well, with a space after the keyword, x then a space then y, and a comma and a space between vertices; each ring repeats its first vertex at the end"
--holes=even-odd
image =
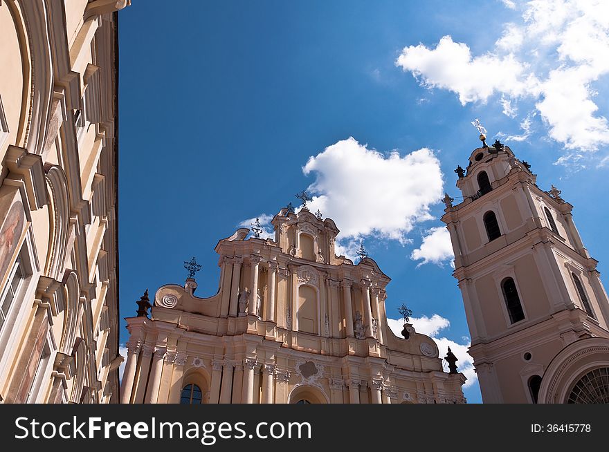
POLYGON ((348 138, 309 158, 302 171, 315 176, 309 209, 332 218, 343 240, 374 235, 408 243, 406 234, 433 218, 430 205, 442 196, 442 171, 429 149, 402 157, 348 138))

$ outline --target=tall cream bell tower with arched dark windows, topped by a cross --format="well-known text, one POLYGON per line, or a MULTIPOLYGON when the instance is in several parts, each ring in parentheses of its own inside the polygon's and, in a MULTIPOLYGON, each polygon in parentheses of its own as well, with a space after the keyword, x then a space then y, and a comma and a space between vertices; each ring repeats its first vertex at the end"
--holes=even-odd
POLYGON ((484 402, 609 402, 609 303, 573 206, 499 142, 455 172, 442 220, 484 402))

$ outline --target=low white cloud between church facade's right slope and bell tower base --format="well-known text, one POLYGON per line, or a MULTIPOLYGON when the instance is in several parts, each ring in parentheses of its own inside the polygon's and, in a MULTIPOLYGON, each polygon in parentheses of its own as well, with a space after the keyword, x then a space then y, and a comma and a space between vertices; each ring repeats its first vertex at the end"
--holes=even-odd
MULTIPOLYGON (((387 323, 394 335, 397 337, 402 337, 402 319, 387 319, 387 323)), ((457 368, 459 372, 463 373, 463 375, 465 375, 467 378, 467 381, 463 385, 464 388, 468 388, 475 383, 478 376, 476 375, 473 367, 473 358, 467 352, 467 349, 470 346, 469 337, 462 337, 462 341, 464 343, 458 343, 452 339, 447 339, 446 337, 438 337, 440 331, 451 326, 451 322, 448 321, 448 319, 445 319, 438 314, 433 314, 431 317, 427 317, 425 315, 421 317, 411 317, 410 323, 412 323, 412 326, 415 328, 416 332, 420 333, 421 335, 429 336, 435 341, 438 346, 439 357, 444 358, 446 356, 446 352, 448 352, 448 347, 451 348, 451 351, 458 359, 457 368)))

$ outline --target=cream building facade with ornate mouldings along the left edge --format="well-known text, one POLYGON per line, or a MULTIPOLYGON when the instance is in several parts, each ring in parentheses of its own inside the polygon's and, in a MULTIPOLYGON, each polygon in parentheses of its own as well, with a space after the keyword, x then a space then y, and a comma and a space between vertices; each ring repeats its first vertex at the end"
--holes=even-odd
POLYGON ((1 402, 118 402, 126 3, 0 1, 1 402))

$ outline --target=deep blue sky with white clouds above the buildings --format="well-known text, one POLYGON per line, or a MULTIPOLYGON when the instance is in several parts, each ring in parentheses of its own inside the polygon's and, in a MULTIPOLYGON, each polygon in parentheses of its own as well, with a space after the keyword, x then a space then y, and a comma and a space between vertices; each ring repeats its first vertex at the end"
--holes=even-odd
MULTIPOLYGON (((349 233, 344 249, 363 240, 392 278, 389 316, 406 303, 415 328, 471 367, 462 299, 433 228, 439 195, 460 195, 453 170, 480 144, 474 118, 531 164, 540 187, 562 190, 603 275, 609 261, 599 203, 609 144, 609 24, 599 17, 609 14, 583 8, 134 1, 120 12, 122 317, 146 288, 183 283, 192 256, 203 265, 197 294, 215 293, 217 241, 309 188, 349 233)), ((480 402, 471 380, 466 397, 480 402)))

